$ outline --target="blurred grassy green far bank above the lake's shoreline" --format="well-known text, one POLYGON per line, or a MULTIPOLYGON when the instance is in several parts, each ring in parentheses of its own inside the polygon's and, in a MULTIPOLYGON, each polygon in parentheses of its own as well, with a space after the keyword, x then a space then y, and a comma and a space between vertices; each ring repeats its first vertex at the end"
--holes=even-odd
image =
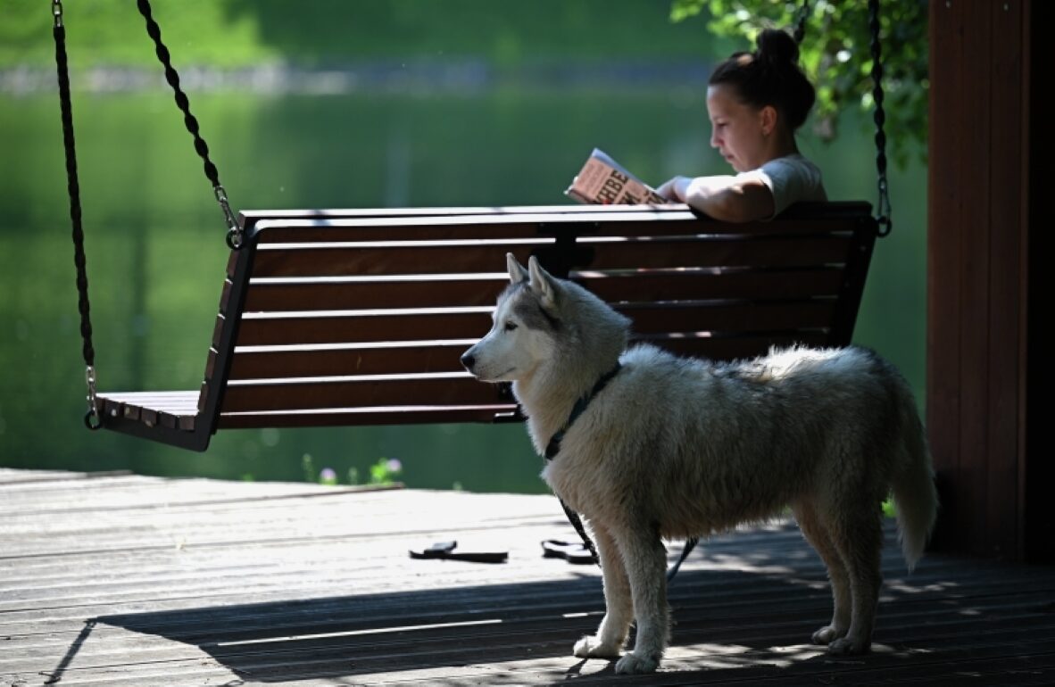
MULTIPOLYGON (((46 0, 0 2, 0 69, 53 60, 46 0)), ((672 25, 640 0, 153 0, 179 64, 324 66, 363 59, 485 57, 521 62, 703 59, 699 26, 672 25), (531 37, 530 40, 526 37, 531 37)), ((66 0, 74 66, 148 66, 153 50, 133 0, 66 0)))

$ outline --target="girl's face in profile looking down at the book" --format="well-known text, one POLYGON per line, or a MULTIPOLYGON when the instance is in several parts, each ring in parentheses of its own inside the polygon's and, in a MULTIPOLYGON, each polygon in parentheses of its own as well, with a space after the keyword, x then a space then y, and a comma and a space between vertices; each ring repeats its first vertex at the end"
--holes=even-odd
POLYGON ((737 172, 769 161, 772 108, 756 110, 736 98, 735 87, 716 83, 707 88, 707 114, 711 119, 711 147, 737 172))

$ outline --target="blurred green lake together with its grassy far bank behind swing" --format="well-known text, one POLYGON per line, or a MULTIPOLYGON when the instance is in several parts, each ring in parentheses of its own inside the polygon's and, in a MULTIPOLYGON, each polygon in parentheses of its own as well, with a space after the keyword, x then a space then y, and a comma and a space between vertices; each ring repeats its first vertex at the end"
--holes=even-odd
MULTIPOLYGON (((6 2, 24 21, 0 50, 0 465, 299 480, 309 455, 347 482, 398 458, 409 486, 546 491, 521 425, 226 431, 205 454, 88 432, 51 15, 6 2)), ((192 389, 226 227, 132 4, 65 9, 96 368, 101 389, 192 389)), ((559 205, 594 147, 656 185, 730 171, 704 95, 710 66, 746 44, 671 23, 665 3, 522 4, 154 3, 235 210, 559 205)), ((800 135, 832 199, 876 203, 869 123, 852 110, 830 144, 809 123, 800 135)), ((922 408, 918 157, 889 170, 894 232, 855 341, 897 364, 922 408)))

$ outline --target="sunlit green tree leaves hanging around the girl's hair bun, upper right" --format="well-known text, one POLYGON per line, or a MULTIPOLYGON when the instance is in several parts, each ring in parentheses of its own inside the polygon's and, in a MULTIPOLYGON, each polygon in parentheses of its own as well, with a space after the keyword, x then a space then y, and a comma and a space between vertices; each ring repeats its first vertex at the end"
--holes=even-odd
MULTIPOLYGON (((806 23, 800 55, 817 85, 814 128, 822 138, 831 138, 838 132, 840 112, 855 102, 864 110, 872 109, 871 34, 866 2, 673 0, 671 18, 680 22, 699 15, 708 31, 717 36, 746 38, 753 47, 763 28, 793 26, 803 7, 806 23)), ((881 3, 879 23, 887 153, 901 167, 912 155, 925 161, 929 90, 926 0, 881 3)))

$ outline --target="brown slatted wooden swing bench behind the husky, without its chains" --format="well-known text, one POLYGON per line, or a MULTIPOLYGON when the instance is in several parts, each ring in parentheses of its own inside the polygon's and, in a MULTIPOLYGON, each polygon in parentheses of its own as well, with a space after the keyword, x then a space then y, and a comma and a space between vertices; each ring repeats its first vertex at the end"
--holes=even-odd
POLYGON ((850 342, 877 222, 862 202, 729 224, 671 206, 243 212, 199 389, 99 393, 103 426, 205 451, 222 428, 518 420, 462 369, 532 254, 633 320, 731 360, 850 342))

